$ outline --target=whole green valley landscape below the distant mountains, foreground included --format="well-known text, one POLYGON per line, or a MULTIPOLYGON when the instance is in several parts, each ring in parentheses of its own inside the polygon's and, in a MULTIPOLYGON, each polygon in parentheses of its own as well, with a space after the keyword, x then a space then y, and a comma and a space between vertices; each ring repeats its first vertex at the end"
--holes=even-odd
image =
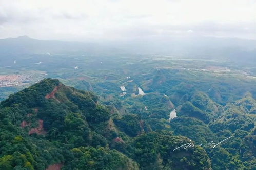
POLYGON ((4 134, 10 126, 13 132, 2 140, 25 150, 13 153, 3 144, 0 167, 29 152, 26 166, 42 170, 253 169, 253 65, 117 53, 7 58, 0 62, 0 117, 4 134), (230 136, 214 149, 206 145, 230 136), (190 140, 203 147, 173 151, 190 140))

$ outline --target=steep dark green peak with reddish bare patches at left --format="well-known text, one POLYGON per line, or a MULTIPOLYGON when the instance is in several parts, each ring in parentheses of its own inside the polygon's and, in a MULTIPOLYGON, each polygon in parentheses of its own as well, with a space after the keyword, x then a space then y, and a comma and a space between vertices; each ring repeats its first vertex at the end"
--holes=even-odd
POLYGON ((0 113, 1 169, 137 169, 120 152, 89 147, 105 147, 102 135, 110 136, 110 113, 90 92, 45 79, 3 101, 0 113), (82 168, 75 160, 83 152, 82 168))

